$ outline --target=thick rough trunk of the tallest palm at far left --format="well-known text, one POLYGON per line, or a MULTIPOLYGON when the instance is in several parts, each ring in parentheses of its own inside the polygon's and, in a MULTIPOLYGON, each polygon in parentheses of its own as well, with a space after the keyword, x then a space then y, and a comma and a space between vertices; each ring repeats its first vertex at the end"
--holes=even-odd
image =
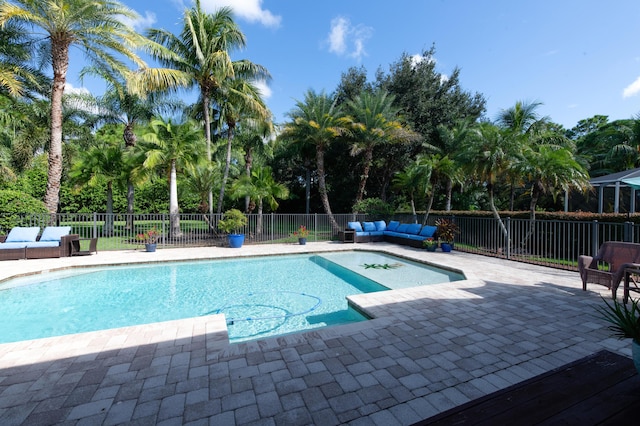
POLYGON ((69 69, 69 42, 51 41, 53 88, 51 90, 51 143, 49 144, 49 171, 44 203, 49 213, 58 211, 60 180, 62 179, 62 95, 69 69))

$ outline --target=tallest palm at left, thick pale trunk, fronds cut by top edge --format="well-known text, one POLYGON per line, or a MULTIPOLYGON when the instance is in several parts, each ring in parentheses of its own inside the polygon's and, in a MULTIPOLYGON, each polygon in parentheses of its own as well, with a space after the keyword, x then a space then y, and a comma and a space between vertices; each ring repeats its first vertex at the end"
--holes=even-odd
POLYGON ((122 57, 144 66, 131 50, 142 46, 144 38, 122 17, 133 19, 136 14, 115 0, 12 0, 0 3, 0 26, 24 23, 32 28, 32 36, 41 40, 51 54, 51 142, 44 197, 51 213, 58 209, 62 177, 62 95, 69 69, 69 50, 72 45, 79 46, 98 67, 122 75, 128 73, 122 57), (38 29, 45 33, 44 37, 38 34, 38 29))

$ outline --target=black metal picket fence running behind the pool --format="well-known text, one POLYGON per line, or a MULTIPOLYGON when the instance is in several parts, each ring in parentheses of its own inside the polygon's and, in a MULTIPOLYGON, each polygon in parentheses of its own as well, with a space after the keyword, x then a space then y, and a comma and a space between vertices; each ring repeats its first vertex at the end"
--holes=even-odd
MULTIPOLYGON (((301 225, 309 230, 309 242, 337 241, 339 231, 349 221, 373 221, 378 217, 365 214, 265 214, 247 215, 242 229, 246 244, 297 243, 294 232, 301 225)), ((486 256, 577 270, 581 254, 594 255, 604 241, 640 242, 640 225, 632 222, 535 220, 462 215, 429 215, 427 224, 448 218, 458 225, 455 249, 486 256)), ((81 238, 98 238, 98 249, 126 250, 142 248, 137 237, 150 229, 158 232, 158 248, 224 246, 226 235, 216 229, 218 215, 180 214, 104 214, 61 213, 3 215, 0 213, 0 235, 13 226, 70 225, 81 238)), ((422 223, 421 215, 395 215, 388 220, 422 223)), ((376 244, 376 243, 367 243, 376 244)))

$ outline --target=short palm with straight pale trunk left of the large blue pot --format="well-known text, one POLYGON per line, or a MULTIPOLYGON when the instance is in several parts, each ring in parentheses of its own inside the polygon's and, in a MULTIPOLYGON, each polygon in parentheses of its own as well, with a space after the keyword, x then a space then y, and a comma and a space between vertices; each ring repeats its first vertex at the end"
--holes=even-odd
POLYGON ((203 156, 205 145, 201 132, 193 121, 174 124, 170 119, 154 119, 151 120, 149 132, 142 136, 146 142, 140 144, 146 157, 143 167, 162 167, 169 175, 169 218, 172 238, 182 236, 177 174, 203 156))

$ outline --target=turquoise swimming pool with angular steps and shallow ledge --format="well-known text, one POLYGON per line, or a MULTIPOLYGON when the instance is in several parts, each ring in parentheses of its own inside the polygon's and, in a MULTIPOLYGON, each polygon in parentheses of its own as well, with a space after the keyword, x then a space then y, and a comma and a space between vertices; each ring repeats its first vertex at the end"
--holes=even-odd
MULTIPOLYGON (((0 343, 222 313, 239 342, 366 318, 347 295, 433 268, 373 252, 83 268, 0 286, 0 343), (364 276, 366 275, 366 276, 364 276)), ((445 274, 446 275, 446 274, 445 274)), ((439 277, 438 282, 463 279, 439 277)), ((415 281, 415 280, 414 280, 415 281)), ((413 285, 423 285, 423 280, 413 285)))

